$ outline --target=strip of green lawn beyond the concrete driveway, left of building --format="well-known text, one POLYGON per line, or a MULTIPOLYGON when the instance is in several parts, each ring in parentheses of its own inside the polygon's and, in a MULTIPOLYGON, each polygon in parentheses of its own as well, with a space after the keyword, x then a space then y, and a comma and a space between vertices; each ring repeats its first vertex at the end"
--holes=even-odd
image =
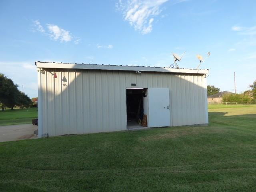
POLYGON ((0 126, 32 123, 38 117, 37 108, 0 110, 0 126))

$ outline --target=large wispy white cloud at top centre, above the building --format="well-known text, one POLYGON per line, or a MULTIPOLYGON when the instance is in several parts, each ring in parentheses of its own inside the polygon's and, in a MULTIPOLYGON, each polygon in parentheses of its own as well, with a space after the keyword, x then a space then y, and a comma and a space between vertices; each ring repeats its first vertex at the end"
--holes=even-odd
POLYGON ((128 21, 135 30, 142 34, 152 31, 154 16, 162 11, 160 6, 168 0, 128 0, 126 3, 119 0, 116 4, 118 10, 124 15, 124 20, 128 21))

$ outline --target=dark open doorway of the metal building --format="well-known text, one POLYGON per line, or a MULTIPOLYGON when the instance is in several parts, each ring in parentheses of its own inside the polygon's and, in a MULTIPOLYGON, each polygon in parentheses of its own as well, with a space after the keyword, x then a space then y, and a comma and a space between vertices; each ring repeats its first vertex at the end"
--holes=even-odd
POLYGON ((127 128, 147 127, 147 89, 126 88, 127 128))

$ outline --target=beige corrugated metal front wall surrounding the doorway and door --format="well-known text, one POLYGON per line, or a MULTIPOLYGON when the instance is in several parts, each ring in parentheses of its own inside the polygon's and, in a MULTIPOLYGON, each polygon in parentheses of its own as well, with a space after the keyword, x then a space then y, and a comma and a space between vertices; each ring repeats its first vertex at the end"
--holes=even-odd
POLYGON ((132 83, 170 89, 171 126, 208 123, 200 74, 44 69, 38 71, 39 137, 126 130, 126 88, 132 83))

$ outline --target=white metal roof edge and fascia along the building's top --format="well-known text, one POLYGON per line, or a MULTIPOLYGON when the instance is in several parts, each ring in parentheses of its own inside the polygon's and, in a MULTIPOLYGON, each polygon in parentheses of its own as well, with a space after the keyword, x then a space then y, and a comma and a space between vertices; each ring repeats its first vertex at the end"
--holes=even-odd
POLYGON ((123 71, 148 71, 148 72, 169 72, 169 73, 190 73, 208 74, 208 69, 176 69, 150 66, 123 66, 123 65, 100 65, 100 64, 77 64, 77 63, 55 63, 35 62, 38 68, 64 68, 64 69, 91 69, 91 70, 123 70, 123 71))

